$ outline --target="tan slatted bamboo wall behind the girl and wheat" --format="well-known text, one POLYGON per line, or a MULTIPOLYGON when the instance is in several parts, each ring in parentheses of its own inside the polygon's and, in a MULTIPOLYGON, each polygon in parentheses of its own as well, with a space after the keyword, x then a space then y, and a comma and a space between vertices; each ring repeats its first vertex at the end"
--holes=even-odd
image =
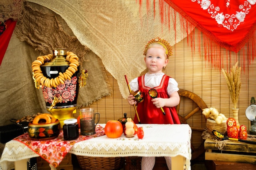
MULTIPOLYGON (((195 30, 198 32, 197 30, 195 30)), ((198 32, 198 34, 201 34, 198 32)), ((220 113, 226 117, 233 117, 232 108, 234 107, 229 96, 229 91, 220 68, 214 68, 211 62, 204 59, 204 52, 202 44, 196 44, 198 40, 195 36, 195 50, 191 51, 191 46, 187 44, 187 38, 173 46, 173 56, 169 59, 166 67, 166 74, 175 78, 179 84, 180 89, 189 90, 199 95, 208 107, 215 107, 220 113), (201 48, 201 52, 199 52, 201 48)), ((225 51, 224 49, 222 49, 225 51)), ((142 51, 141 51, 142 53, 142 51)), ((255 54, 254 54, 255 55, 255 54)), ((223 52, 222 58, 223 66, 227 63, 233 66, 236 61, 243 64, 243 54, 238 52, 226 53, 223 52)), ((245 63, 245 71, 241 73, 241 92, 237 108, 239 108, 239 122, 240 125, 245 125, 249 129, 250 121, 245 116, 245 110, 250 104, 251 97, 256 96, 256 80, 254 71, 256 64, 252 61, 245 63)), ((227 68, 225 69, 227 70, 227 68)), ((135 111, 130 106, 126 99, 121 96, 117 81, 108 71, 106 71, 113 93, 111 96, 103 97, 97 102, 94 102, 89 107, 94 108, 95 112, 100 113, 100 123, 106 123, 108 120, 117 120, 123 117, 123 113, 127 113, 128 117, 134 117, 135 111)), ((143 73, 146 73, 144 71, 143 73)), ((184 102, 182 99, 180 108, 180 115, 186 116, 193 108, 196 107, 195 103, 191 101, 184 102)), ((202 112, 188 120, 190 126, 205 128, 205 120, 202 117, 202 112)), ((78 113, 76 113, 76 116, 78 113)), ((200 144, 201 137, 198 135, 198 143, 200 144)))

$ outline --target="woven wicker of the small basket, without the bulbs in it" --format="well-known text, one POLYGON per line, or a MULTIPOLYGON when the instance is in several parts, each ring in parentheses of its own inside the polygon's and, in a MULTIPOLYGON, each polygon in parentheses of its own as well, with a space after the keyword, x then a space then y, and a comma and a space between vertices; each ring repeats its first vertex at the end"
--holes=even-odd
POLYGON ((223 120, 221 124, 217 124, 215 120, 207 119, 207 131, 211 134, 213 130, 217 130, 222 135, 227 135, 227 121, 223 120))

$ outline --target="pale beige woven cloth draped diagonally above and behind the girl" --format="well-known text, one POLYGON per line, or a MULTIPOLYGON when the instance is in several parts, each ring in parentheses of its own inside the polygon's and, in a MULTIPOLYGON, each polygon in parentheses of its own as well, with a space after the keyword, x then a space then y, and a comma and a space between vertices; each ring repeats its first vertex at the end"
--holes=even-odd
MULTIPOLYGON (((188 24, 173 9, 170 27, 162 24, 159 16, 159 1, 151 1, 147 13, 146 0, 27 0, 40 4, 58 13, 72 29, 81 44, 88 46, 102 60, 107 71, 119 85, 124 98, 128 88, 124 75, 131 80, 140 75, 146 66, 143 60, 144 47, 149 40, 159 36, 171 45, 180 42, 194 27, 188 24), (188 26, 188 28, 187 28, 188 26)), ((163 4, 161 4, 163 5, 163 4)), ((175 56, 173 56, 175 57, 175 56)), ((170 59, 172 62, 172 59, 170 59)))

